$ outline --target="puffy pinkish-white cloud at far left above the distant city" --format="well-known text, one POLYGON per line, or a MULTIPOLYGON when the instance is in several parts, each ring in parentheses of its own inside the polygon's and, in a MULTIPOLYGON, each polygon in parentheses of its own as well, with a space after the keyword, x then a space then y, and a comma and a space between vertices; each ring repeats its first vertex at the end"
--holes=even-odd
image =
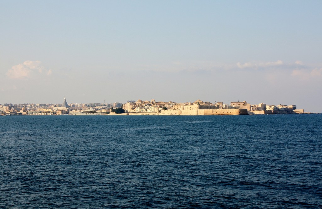
MULTIPOLYGON (((42 73, 44 67, 41 66, 40 61, 24 61, 22 64, 14 65, 6 73, 6 75, 11 79, 27 79, 31 76, 33 72, 42 73)), ((52 71, 49 70, 47 75, 52 74, 52 71)))

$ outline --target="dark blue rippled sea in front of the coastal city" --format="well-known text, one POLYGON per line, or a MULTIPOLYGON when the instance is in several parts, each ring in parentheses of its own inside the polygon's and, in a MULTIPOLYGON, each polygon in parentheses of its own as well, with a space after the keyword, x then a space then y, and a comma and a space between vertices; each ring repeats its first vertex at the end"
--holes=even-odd
POLYGON ((0 125, 0 208, 322 208, 319 114, 0 125))

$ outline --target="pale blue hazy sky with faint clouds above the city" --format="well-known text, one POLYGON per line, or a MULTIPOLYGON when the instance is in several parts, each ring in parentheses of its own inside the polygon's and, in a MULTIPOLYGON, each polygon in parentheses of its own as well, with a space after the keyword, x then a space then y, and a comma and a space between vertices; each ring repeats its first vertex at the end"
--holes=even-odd
POLYGON ((246 100, 322 112, 321 8, 0 0, 0 104, 246 100))

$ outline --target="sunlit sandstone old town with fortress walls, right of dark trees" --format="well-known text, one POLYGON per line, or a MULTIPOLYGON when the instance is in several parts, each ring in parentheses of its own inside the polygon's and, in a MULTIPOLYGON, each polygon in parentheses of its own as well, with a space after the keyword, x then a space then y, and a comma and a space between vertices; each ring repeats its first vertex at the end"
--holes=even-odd
POLYGON ((246 101, 232 101, 231 105, 223 102, 211 103, 202 100, 175 103, 137 100, 123 105, 127 115, 255 115, 255 114, 293 114, 304 113, 296 110, 296 105, 251 105, 246 101))

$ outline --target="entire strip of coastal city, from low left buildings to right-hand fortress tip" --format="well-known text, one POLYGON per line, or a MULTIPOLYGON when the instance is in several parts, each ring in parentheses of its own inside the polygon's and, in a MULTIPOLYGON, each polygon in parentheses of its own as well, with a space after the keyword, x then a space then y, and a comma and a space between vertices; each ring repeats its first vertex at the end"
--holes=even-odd
POLYGON ((296 105, 250 104, 232 101, 230 104, 196 100, 176 103, 156 100, 115 103, 62 104, 0 104, 0 115, 254 115, 254 114, 302 114, 304 109, 296 105))

